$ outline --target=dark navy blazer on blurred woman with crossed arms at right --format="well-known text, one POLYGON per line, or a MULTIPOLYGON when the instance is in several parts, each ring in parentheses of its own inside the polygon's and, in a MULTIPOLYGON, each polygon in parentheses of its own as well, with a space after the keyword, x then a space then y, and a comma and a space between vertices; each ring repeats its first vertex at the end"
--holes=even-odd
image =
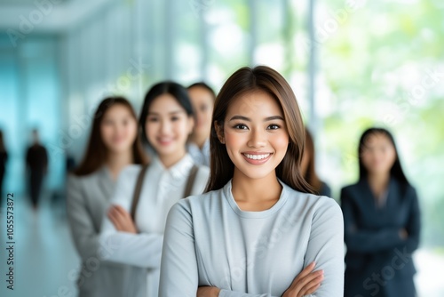
POLYGON ((367 181, 341 190, 344 213, 345 296, 416 296, 411 253, 419 244, 416 190, 391 179, 385 206, 377 207, 367 181), (406 229, 407 239, 400 237, 406 229))

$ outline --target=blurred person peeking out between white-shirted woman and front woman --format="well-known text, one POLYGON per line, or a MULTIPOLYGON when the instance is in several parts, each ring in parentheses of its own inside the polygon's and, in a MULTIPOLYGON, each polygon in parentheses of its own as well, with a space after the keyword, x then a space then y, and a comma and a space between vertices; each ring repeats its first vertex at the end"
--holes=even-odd
POLYGON ((210 166, 210 130, 216 93, 205 83, 188 86, 194 109, 194 130, 188 139, 188 153, 197 164, 210 166))

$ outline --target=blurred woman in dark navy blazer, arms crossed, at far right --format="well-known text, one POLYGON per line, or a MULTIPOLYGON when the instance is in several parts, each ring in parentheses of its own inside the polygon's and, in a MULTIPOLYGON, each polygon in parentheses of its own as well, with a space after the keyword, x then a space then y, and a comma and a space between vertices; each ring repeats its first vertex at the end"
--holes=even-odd
POLYGON ((360 180, 341 191, 345 222, 345 297, 416 296, 412 253, 419 244, 416 190, 404 175, 392 134, 365 131, 360 180))

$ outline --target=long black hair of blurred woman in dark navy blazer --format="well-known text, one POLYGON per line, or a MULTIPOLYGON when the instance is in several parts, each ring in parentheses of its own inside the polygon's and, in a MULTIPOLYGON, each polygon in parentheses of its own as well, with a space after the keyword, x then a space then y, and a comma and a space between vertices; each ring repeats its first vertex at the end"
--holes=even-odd
POLYGON ((390 142, 392 142, 392 146, 396 153, 396 159, 394 160, 392 168, 390 169, 390 176, 394 177, 396 180, 400 181, 401 183, 410 184, 406 178, 406 175, 404 174, 404 171, 402 170, 402 166, 400 165, 400 157, 392 133, 384 128, 378 128, 378 127, 369 128, 366 131, 364 131, 361 135, 361 140, 358 148, 360 181, 366 180, 367 177, 369 176, 367 168, 365 168, 365 166, 362 164, 362 158, 361 158, 362 151, 366 146, 366 141, 369 139, 369 136, 376 134, 385 135, 385 137, 387 137, 387 139, 390 140, 390 142))

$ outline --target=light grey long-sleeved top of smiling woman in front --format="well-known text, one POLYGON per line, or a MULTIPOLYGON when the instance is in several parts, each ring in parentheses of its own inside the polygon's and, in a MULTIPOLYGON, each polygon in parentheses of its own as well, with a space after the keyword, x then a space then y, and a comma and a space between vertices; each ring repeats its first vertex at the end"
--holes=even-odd
POLYGON ((281 296, 308 264, 324 270, 312 296, 344 292, 344 223, 337 202, 281 182, 270 209, 244 212, 229 181, 222 189, 174 205, 164 234, 159 296, 281 296))

